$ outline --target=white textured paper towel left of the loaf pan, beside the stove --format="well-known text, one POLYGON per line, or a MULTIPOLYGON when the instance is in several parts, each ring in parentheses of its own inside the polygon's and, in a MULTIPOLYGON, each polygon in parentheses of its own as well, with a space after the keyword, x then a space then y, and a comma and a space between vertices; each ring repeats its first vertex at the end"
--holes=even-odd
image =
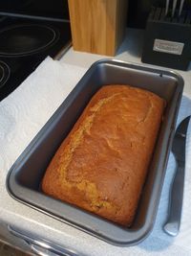
POLYGON ((46 58, 0 103, 0 170, 8 172, 85 71, 46 58))

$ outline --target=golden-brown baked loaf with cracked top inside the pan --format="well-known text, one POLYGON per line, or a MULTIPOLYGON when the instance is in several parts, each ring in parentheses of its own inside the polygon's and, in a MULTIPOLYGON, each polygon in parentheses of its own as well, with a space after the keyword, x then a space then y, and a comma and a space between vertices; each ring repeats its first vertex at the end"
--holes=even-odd
POLYGON ((159 96, 137 87, 101 87, 54 154, 43 192, 131 225, 164 105, 159 96))

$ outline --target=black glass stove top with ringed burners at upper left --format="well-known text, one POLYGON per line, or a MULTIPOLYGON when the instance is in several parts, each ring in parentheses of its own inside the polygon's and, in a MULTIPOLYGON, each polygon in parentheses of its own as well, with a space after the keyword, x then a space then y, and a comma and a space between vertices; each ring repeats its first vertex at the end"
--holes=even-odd
POLYGON ((71 46, 69 20, 22 15, 0 16, 0 101, 48 56, 71 46))

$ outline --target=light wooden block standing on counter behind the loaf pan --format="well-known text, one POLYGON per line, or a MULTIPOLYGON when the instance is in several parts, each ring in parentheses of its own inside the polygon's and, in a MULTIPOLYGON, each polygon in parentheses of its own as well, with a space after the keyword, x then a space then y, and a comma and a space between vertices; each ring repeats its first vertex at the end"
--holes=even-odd
POLYGON ((126 28, 128 0, 68 0, 75 51, 115 56, 126 28))

